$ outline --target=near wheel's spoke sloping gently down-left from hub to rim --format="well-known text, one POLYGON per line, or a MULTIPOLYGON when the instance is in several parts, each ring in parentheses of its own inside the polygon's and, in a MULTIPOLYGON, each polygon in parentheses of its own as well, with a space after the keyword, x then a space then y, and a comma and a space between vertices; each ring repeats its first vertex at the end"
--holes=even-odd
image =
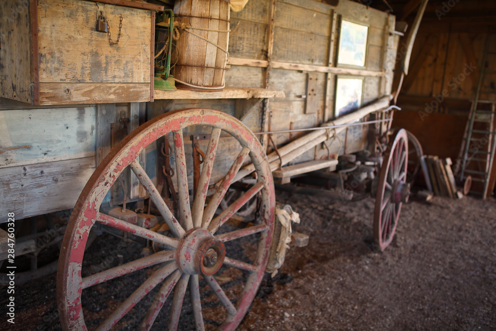
POLYGON ((160 251, 150 256, 125 263, 124 265, 119 265, 84 277, 82 279, 82 287, 83 289, 85 289, 96 284, 101 284, 104 281, 123 276, 125 274, 146 268, 151 265, 158 265, 159 263, 172 261, 175 259, 175 257, 176 252, 174 251, 160 251))

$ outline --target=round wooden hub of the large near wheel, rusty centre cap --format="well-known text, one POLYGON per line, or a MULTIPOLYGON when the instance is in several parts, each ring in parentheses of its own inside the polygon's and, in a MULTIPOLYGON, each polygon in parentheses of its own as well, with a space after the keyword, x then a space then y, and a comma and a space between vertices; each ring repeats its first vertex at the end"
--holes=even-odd
POLYGON ((176 253, 176 262, 184 273, 211 276, 216 273, 226 256, 224 244, 210 232, 194 228, 185 233, 176 253))

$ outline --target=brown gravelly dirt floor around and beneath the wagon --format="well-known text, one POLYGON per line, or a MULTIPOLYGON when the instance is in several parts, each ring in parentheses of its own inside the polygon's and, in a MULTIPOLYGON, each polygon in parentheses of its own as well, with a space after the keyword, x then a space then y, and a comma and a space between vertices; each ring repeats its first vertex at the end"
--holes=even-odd
MULTIPOLYGON (((496 330, 494 198, 408 203, 384 253, 372 247, 373 199, 329 203, 279 193, 277 200, 300 213, 302 223, 295 229, 308 234, 310 244, 292 247, 278 275, 264 278, 239 330, 496 330)), ((120 239, 110 237, 100 236, 90 247, 93 261, 103 261, 105 250, 118 247, 120 239)), ((140 249, 131 245, 123 252, 139 257, 140 249)), ((88 272, 105 267, 88 264, 88 272)), ((86 302, 88 324, 98 325, 100 316, 146 274, 115 283, 117 297, 92 289, 86 302)), ((0 330, 60 330, 55 278, 16 285, 15 325, 6 323, 2 288, 0 330)), ((192 319, 190 314, 181 318, 192 319)), ((165 325, 159 323, 157 330, 165 325)), ((191 329, 188 323, 180 326, 191 329)))

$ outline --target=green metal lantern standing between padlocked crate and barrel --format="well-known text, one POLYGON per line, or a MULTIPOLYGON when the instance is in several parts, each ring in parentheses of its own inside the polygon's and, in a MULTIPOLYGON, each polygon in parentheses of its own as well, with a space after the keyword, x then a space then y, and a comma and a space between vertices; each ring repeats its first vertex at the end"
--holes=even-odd
POLYGON ((164 10, 157 16, 156 20, 156 36, 155 53, 159 52, 166 43, 166 40, 161 40, 163 36, 168 35, 167 58, 165 63, 160 64, 155 62, 155 79, 154 88, 157 90, 176 90, 174 76, 171 72, 171 54, 172 54, 172 35, 174 33, 174 11, 171 9, 164 10))

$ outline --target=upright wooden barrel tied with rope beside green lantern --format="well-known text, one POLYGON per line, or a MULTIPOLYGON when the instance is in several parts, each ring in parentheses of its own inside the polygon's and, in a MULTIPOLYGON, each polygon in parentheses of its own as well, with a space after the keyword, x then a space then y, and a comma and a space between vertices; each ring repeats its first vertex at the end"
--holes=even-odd
POLYGON ((177 0, 176 87, 222 90, 229 44, 229 0, 177 0), (207 41, 208 40, 208 41, 207 41), (186 84, 184 84, 184 83, 186 84))

